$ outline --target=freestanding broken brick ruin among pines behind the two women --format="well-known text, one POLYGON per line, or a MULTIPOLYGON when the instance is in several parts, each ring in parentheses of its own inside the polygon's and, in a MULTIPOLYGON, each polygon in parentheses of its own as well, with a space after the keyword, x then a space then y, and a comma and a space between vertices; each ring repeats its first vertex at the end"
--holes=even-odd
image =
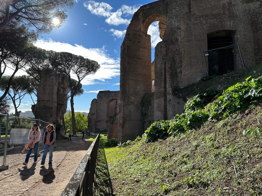
MULTIPOLYGON (((65 129, 61 126, 61 119, 67 108, 69 80, 54 70, 43 70, 40 77, 37 104, 32 105, 32 112, 36 119, 56 124, 57 138, 64 138, 65 129)), ((47 124, 42 123, 41 126, 47 124)))

